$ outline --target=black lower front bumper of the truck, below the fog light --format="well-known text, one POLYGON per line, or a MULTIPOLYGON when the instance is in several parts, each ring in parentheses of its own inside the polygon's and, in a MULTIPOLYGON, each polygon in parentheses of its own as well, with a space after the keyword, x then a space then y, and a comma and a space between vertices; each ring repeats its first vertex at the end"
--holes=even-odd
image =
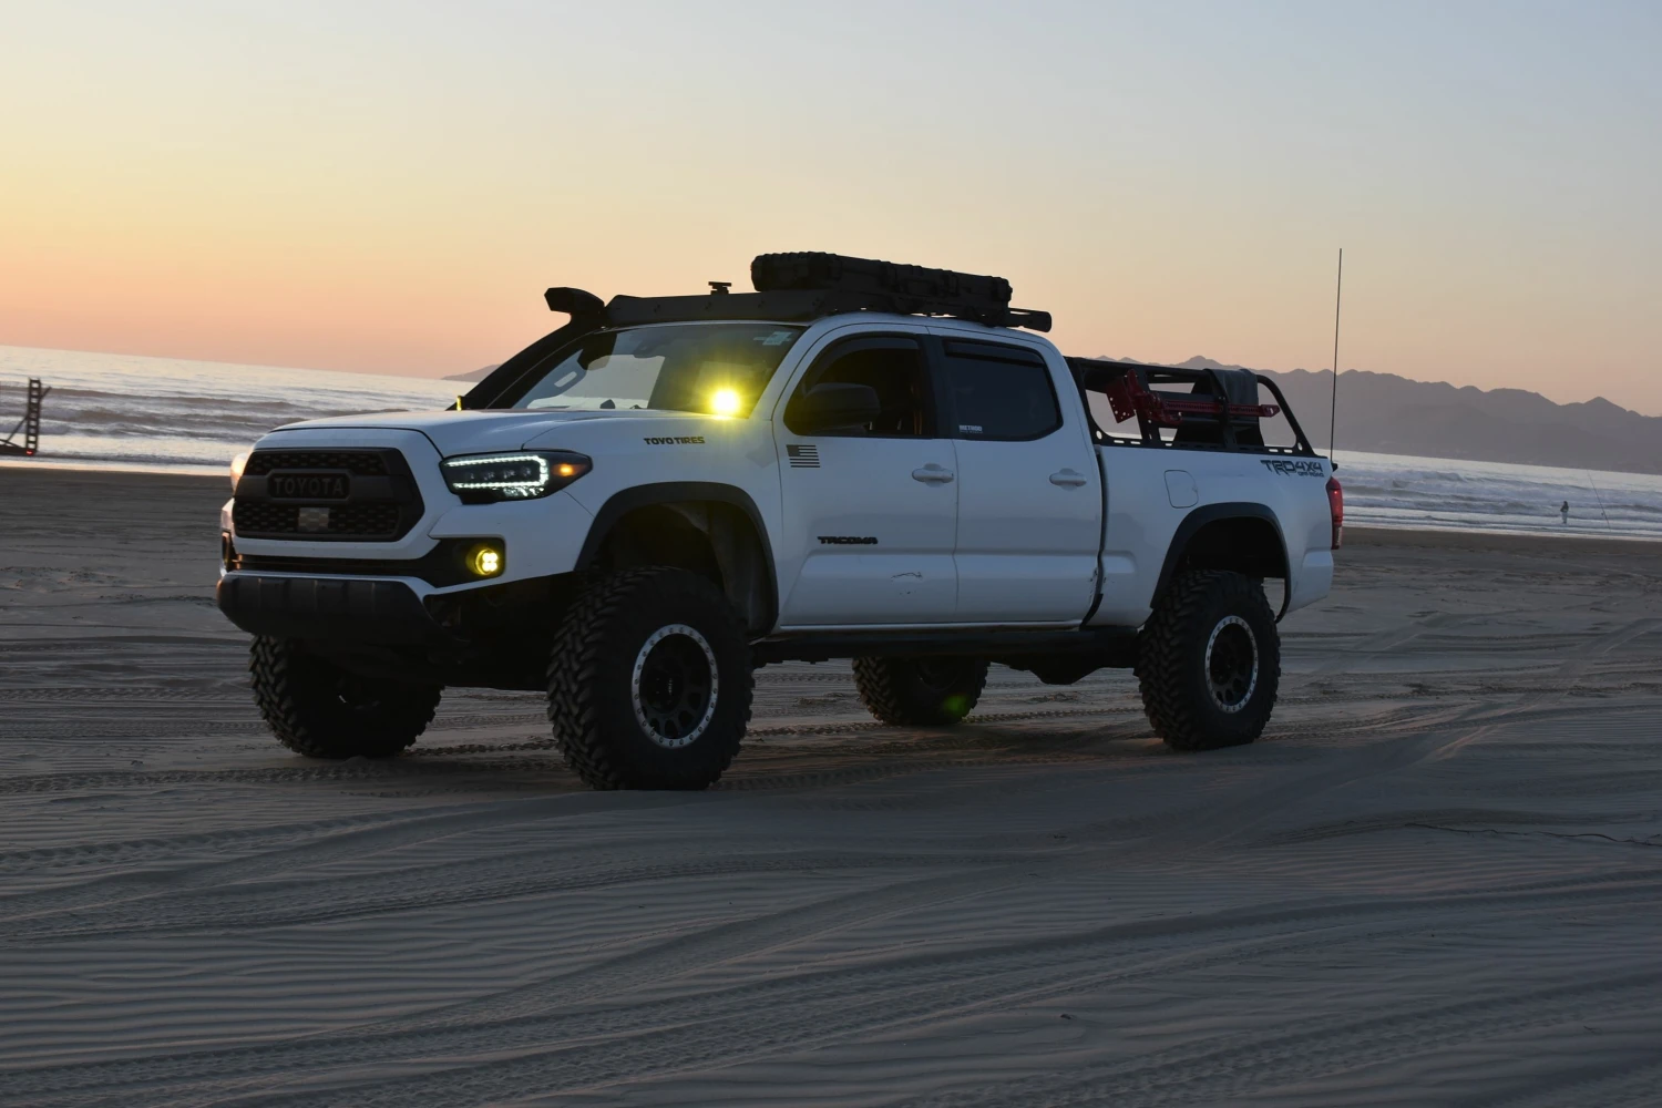
POLYGON ((406 581, 226 573, 214 600, 249 635, 392 646, 450 640, 406 581))

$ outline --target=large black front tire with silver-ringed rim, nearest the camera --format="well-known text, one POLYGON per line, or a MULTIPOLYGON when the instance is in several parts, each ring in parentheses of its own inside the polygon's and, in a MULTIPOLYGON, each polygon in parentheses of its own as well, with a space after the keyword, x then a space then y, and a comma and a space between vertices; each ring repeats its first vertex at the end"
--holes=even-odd
POLYGON ((721 590, 686 570, 642 566, 595 578, 562 620, 548 659, 548 723, 565 764, 595 789, 706 789, 738 754, 753 689, 745 625, 721 590), (678 626, 703 643, 673 631, 678 626), (675 731, 681 718, 675 708, 652 708, 645 689, 656 664, 650 641, 660 633, 668 635, 658 643, 690 656, 688 664, 715 659, 706 678, 695 674, 660 689, 673 699, 680 694, 675 688, 708 679, 713 708, 681 713, 705 719, 701 728, 680 734, 655 729, 675 731), (668 714, 653 723, 653 711, 668 714))

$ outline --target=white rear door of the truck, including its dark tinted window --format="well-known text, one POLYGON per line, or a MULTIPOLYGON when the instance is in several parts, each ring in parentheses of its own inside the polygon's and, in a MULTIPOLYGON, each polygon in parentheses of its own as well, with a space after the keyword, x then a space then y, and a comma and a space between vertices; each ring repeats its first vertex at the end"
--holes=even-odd
POLYGON ((1102 478, 1064 419, 1072 379, 1024 346, 941 337, 957 440, 957 621, 1079 623, 1097 588, 1102 478))

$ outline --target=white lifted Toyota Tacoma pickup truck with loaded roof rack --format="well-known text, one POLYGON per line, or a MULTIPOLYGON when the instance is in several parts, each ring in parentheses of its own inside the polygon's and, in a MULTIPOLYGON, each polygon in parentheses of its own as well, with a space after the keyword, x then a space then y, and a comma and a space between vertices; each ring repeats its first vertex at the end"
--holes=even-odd
POLYGON ((454 410, 238 458, 218 603, 278 739, 389 756, 445 686, 537 689, 592 786, 698 789, 753 669, 828 658, 891 724, 962 719, 996 661, 1132 666, 1178 749, 1263 731, 1276 621, 1328 593, 1341 533, 1273 382, 1067 359, 997 277, 833 254, 751 276, 550 289, 572 321, 454 410))

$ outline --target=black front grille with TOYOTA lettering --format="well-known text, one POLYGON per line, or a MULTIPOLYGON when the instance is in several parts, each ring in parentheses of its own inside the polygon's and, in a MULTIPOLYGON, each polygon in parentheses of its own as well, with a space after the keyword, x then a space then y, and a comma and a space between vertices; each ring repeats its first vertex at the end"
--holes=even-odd
POLYGON ((254 450, 236 487, 238 538, 396 542, 422 517, 420 493, 397 450, 254 450), (273 500, 266 475, 336 470, 352 475, 346 500, 273 500))

